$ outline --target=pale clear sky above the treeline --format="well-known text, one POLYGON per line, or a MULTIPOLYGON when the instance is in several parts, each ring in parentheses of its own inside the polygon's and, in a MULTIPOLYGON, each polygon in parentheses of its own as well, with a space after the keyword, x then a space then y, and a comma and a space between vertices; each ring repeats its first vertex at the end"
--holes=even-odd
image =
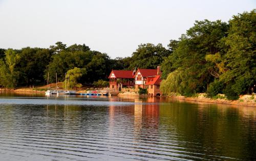
POLYGON ((0 48, 61 41, 127 57, 141 43, 167 47, 195 20, 228 21, 255 8, 255 0, 0 0, 0 48))

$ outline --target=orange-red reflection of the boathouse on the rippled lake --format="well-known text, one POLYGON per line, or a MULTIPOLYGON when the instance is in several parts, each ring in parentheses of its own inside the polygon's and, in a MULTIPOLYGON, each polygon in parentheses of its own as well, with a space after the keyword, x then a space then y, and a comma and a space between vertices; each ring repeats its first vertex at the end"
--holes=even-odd
MULTIPOLYGON (((159 128, 159 98, 133 98, 131 105, 110 105, 109 106, 109 134, 113 129, 120 133, 122 130, 131 130, 137 140, 148 139, 158 136, 159 128)), ((111 99, 110 101, 116 101, 111 99)), ((131 101, 131 99, 129 100, 131 101)), ((119 135, 120 135, 119 133, 119 135)))

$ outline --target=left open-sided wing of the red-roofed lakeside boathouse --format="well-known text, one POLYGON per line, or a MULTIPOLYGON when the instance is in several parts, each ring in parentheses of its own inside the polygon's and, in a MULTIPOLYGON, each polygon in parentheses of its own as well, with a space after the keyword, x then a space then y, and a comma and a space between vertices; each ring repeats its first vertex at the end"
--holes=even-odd
POLYGON ((132 70, 112 70, 110 75, 110 89, 133 88, 134 73, 132 70))

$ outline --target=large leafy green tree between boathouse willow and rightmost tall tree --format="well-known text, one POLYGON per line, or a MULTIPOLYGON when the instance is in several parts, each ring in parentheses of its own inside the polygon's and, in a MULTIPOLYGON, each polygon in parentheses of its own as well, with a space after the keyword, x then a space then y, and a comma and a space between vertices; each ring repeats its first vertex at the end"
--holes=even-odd
POLYGON ((220 40, 226 36, 228 25, 225 22, 217 21, 196 21, 194 26, 182 35, 179 41, 172 41, 170 44, 172 54, 162 63, 164 77, 171 72, 172 79, 167 77, 166 84, 172 84, 170 80, 175 78, 183 85, 182 88, 172 89, 176 86, 169 86, 170 91, 190 95, 196 92, 205 92, 210 82, 214 80, 211 71, 215 69, 213 62, 207 62, 207 55, 215 55, 220 52, 220 40), (179 69, 179 72, 175 72, 179 69), (168 71, 168 72, 166 72, 168 71), (186 75, 186 79, 180 79, 176 75, 186 75))

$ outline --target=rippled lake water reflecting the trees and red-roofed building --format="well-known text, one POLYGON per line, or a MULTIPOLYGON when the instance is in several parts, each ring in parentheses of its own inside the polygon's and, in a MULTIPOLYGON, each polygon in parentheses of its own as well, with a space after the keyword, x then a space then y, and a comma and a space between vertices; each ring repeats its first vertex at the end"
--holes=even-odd
POLYGON ((255 160, 256 108, 0 94, 1 160, 255 160))

